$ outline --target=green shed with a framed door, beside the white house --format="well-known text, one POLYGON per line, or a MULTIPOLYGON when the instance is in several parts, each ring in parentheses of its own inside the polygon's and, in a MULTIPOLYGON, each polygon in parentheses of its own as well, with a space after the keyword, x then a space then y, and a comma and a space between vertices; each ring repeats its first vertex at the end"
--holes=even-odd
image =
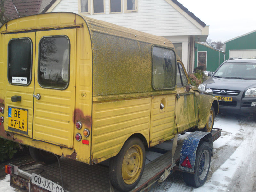
POLYGON ((206 43, 195 43, 195 68, 204 71, 215 71, 225 60, 225 52, 215 49, 206 43))

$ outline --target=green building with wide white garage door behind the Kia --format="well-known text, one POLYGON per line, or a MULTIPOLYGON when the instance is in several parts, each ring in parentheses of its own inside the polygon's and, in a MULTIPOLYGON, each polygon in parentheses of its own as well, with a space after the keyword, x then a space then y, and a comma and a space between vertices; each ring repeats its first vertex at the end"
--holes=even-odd
POLYGON ((231 57, 256 58, 256 30, 225 41, 226 60, 231 57))

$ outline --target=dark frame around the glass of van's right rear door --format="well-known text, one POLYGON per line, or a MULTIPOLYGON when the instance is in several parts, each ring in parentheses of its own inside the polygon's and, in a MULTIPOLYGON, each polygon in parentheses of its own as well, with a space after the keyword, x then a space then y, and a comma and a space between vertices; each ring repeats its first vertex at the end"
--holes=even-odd
POLYGON ((70 39, 68 38, 68 36, 66 35, 50 35, 50 36, 43 36, 40 40, 39 40, 39 43, 38 43, 38 62, 37 62, 37 83, 40 87, 42 88, 46 88, 46 89, 57 89, 57 90, 65 90, 68 88, 69 86, 69 81, 70 81, 70 39), (39 76, 40 76, 40 42, 43 38, 45 37, 66 37, 67 40, 68 40, 68 81, 67 81, 67 84, 64 88, 57 88, 57 87, 47 87, 47 86, 43 86, 39 83, 39 76))

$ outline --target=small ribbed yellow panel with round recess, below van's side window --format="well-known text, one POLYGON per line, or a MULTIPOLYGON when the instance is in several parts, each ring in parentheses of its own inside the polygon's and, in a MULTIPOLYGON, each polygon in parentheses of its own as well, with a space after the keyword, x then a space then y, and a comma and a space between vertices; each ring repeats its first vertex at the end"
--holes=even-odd
POLYGON ((175 94, 154 96, 152 98, 150 122, 150 146, 170 139, 174 132, 175 94), (164 108, 160 109, 160 104, 164 108))

